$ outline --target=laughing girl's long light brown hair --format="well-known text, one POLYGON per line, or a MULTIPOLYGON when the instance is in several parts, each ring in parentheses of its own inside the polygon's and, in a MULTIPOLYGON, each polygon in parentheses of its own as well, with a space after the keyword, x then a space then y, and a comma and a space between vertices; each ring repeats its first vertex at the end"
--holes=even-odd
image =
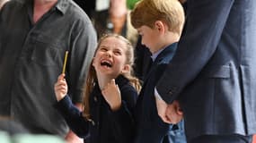
MULTIPOLYGON (((134 49, 133 46, 131 45, 131 43, 128 41, 127 38, 124 38, 118 34, 107 34, 104 35, 98 43, 98 46, 96 48, 96 51, 94 53, 94 56, 97 52, 97 50, 99 49, 99 47, 102 44, 102 41, 106 38, 117 38, 119 40, 122 40, 126 43, 127 46, 127 51, 126 51, 126 55, 127 55, 127 64, 130 65, 130 71, 126 72, 126 73, 120 73, 123 76, 125 76, 131 83, 131 85, 136 88, 137 92, 139 92, 141 85, 139 80, 133 76, 133 69, 132 66, 134 64, 134 49)), ((90 120, 90 105, 89 105, 89 97, 93 91, 93 88, 95 86, 95 82, 97 81, 97 76, 96 76, 96 71, 94 70, 93 67, 93 61, 91 62, 91 65, 89 67, 89 71, 87 74, 87 78, 85 80, 85 86, 84 86, 84 100, 83 100, 83 115, 84 118, 86 118, 87 120, 90 120)))

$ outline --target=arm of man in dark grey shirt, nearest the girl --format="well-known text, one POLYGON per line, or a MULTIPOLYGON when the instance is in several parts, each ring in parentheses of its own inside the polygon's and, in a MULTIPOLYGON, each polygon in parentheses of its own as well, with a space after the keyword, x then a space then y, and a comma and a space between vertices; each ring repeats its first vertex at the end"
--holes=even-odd
MULTIPOLYGON (((69 85, 68 94, 73 103, 81 105, 84 79, 93 59, 97 37, 91 21, 77 21, 72 36, 67 60, 66 80, 69 85)), ((80 107, 78 109, 81 110, 80 107)), ((66 135, 66 141, 68 143, 84 142, 77 138, 71 130, 66 135)))

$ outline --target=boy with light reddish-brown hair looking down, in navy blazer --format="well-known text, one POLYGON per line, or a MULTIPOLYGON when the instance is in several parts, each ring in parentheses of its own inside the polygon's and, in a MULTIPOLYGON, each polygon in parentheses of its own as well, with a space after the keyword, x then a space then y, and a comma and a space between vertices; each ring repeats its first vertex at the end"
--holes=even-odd
MULTIPOLYGON (((136 143, 186 142, 183 122, 163 122, 157 114, 154 97, 155 84, 175 53, 184 19, 183 8, 178 0, 141 0, 131 12, 131 23, 141 36, 142 44, 149 48, 153 60, 137 99, 136 143)), ((179 107, 176 113, 182 118, 179 107)))

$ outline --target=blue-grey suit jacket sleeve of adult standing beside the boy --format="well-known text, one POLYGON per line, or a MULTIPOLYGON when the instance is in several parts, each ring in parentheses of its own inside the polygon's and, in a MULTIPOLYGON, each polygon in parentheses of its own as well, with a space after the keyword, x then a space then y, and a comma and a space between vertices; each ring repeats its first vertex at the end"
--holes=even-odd
POLYGON ((214 55, 233 4, 234 0, 188 1, 186 31, 156 85, 166 103, 179 97, 214 55))

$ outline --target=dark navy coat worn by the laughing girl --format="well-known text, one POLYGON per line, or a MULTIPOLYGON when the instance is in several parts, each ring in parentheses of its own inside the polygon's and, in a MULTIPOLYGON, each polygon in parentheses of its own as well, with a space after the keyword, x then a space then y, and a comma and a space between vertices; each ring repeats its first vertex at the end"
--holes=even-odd
POLYGON ((110 105, 102 97, 101 89, 95 85, 90 95, 92 121, 84 119, 82 113, 72 104, 68 96, 60 100, 56 107, 63 115, 70 129, 86 143, 130 143, 134 138, 135 122, 132 116, 136 105, 137 91, 123 76, 116 79, 122 103, 118 111, 111 111, 110 105))

